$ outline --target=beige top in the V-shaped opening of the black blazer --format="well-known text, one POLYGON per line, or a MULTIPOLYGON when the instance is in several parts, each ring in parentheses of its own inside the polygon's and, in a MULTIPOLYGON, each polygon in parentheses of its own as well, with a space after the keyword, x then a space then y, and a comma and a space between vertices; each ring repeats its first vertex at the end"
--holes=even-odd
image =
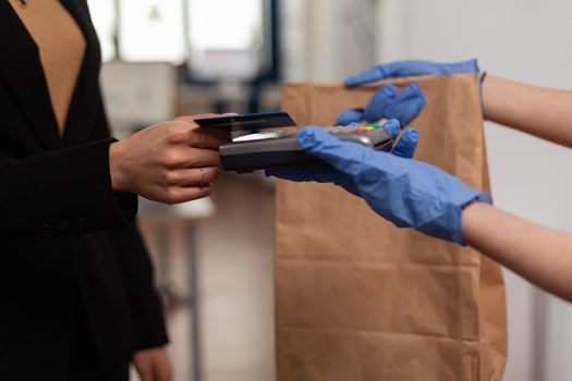
POLYGON ((39 49, 60 135, 85 53, 82 30, 59 0, 8 0, 39 49))

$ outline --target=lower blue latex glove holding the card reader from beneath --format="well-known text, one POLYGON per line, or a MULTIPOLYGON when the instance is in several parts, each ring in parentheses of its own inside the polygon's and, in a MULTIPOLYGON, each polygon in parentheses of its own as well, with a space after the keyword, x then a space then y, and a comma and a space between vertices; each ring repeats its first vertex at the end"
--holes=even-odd
POLYGON ((461 211, 488 195, 438 168, 353 142, 343 142, 317 126, 297 133, 301 146, 325 165, 267 171, 285 180, 334 183, 362 197, 378 214, 400 228, 464 244, 461 211))

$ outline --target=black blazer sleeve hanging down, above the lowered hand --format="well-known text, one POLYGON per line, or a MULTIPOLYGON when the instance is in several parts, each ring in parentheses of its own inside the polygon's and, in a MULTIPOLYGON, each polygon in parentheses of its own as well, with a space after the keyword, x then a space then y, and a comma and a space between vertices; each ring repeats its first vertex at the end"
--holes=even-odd
POLYGON ((137 226, 110 232, 125 280, 135 332, 134 351, 169 342, 162 304, 154 286, 153 267, 137 226))

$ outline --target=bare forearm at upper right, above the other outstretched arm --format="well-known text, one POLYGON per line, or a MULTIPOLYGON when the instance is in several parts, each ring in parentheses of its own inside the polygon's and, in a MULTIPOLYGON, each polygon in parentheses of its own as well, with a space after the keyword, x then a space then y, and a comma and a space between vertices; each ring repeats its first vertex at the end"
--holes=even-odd
POLYGON ((572 91, 487 76, 483 103, 492 122, 572 147, 572 91))

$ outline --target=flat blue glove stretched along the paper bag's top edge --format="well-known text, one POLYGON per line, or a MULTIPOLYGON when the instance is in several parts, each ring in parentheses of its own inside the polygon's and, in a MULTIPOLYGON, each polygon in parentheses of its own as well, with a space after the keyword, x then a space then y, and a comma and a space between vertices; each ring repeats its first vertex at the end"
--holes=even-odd
POLYGON ((415 75, 445 75, 478 73, 477 60, 455 63, 437 63, 430 61, 398 61, 376 65, 345 79, 345 86, 364 85, 386 78, 415 75))

